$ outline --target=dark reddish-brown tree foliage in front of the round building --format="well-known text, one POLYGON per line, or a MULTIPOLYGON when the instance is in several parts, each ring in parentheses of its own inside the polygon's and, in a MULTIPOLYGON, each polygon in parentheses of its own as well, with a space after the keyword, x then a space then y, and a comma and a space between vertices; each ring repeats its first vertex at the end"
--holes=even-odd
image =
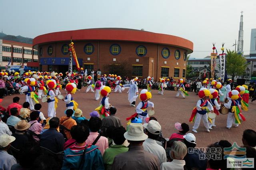
POLYGON ((131 73, 131 70, 129 69, 127 63, 128 61, 123 61, 105 65, 104 70, 106 70, 106 73, 116 74, 120 75, 121 77, 124 77, 130 75, 129 73, 131 73))

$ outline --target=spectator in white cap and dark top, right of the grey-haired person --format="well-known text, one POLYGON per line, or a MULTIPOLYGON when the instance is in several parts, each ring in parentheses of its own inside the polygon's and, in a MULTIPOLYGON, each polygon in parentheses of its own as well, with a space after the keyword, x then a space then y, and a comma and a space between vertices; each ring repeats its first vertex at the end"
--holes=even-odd
MULTIPOLYGON (((184 136, 184 144, 186 144, 187 148, 195 148, 196 147, 196 137, 192 133, 188 133, 184 136)), ((203 154, 200 152, 200 154, 203 154)), ((199 158, 199 154, 196 150, 192 153, 191 151, 186 154, 184 157, 186 162, 186 168, 188 170, 198 169, 205 170, 207 167, 207 160, 199 158)))

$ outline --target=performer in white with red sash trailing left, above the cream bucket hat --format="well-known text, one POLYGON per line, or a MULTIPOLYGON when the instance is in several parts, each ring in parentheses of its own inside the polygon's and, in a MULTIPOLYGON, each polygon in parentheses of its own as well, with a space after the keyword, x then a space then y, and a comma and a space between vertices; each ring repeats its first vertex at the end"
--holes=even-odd
POLYGON ((138 117, 142 120, 143 123, 146 123, 146 118, 148 117, 147 108, 151 107, 151 109, 154 110, 154 103, 148 101, 152 98, 152 94, 148 90, 143 89, 142 91, 140 91, 139 97, 141 102, 136 107, 136 113, 126 118, 126 121, 129 121, 133 117, 138 117))

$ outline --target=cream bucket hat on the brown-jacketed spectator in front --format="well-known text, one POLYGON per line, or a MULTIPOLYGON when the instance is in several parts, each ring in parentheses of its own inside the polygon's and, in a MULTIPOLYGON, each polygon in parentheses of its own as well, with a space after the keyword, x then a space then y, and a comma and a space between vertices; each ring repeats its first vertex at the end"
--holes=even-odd
POLYGON ((143 127, 141 123, 131 123, 128 132, 124 133, 124 137, 131 141, 142 141, 148 138, 143 132, 143 127))

